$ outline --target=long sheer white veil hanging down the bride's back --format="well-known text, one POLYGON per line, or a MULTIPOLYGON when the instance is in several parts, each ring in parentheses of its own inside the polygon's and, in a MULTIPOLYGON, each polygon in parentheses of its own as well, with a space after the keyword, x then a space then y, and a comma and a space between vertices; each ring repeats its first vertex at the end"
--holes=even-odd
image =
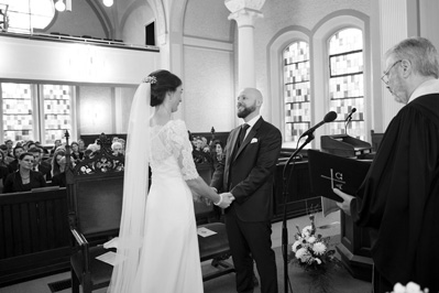
POLYGON ((151 83, 138 87, 131 106, 125 151, 123 205, 118 252, 108 292, 133 292, 142 253, 144 216, 149 192, 151 83))

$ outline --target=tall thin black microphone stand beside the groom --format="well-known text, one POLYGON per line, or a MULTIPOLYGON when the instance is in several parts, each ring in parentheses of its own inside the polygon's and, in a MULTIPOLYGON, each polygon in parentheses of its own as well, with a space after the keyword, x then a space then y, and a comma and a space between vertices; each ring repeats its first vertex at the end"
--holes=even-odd
MULTIPOLYGON (((283 171, 284 215, 283 215, 283 219, 282 219, 282 254, 284 257, 284 289, 285 289, 285 293, 288 293, 288 284, 289 284, 289 282, 288 282, 288 228, 286 225, 286 202, 287 202, 287 197, 288 197, 287 187, 288 187, 290 175, 293 174, 295 164, 293 164, 293 167, 289 171, 288 176, 286 176, 286 170, 287 170, 287 166, 289 165, 289 163, 296 156, 296 154, 298 154, 298 152, 300 152, 301 149, 304 149, 304 146, 307 145, 312 140, 314 140, 314 131, 307 134, 306 141, 296 151, 294 151, 294 153, 289 156, 288 161, 286 161, 286 163, 285 163, 284 171, 283 171)), ((293 293, 293 287, 292 287, 290 292, 293 293)))

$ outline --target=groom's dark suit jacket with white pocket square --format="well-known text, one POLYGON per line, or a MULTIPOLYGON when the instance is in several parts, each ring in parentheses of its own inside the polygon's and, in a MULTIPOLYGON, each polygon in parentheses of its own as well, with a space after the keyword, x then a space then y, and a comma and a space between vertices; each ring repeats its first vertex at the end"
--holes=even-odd
POLYGON ((239 132, 240 127, 230 132, 224 148, 226 162, 218 164, 210 185, 233 194, 235 200, 230 208, 235 209, 241 220, 270 220, 274 171, 282 148, 281 131, 260 118, 233 152, 239 132))

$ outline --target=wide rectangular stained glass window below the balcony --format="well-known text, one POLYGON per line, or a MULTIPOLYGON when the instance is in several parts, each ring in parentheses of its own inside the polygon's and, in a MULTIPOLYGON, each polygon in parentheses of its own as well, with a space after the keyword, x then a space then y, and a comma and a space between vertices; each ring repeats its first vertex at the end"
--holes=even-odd
POLYGON ((53 144, 72 133, 73 87, 2 83, 3 138, 53 144), (40 133, 40 135, 39 135, 40 133))

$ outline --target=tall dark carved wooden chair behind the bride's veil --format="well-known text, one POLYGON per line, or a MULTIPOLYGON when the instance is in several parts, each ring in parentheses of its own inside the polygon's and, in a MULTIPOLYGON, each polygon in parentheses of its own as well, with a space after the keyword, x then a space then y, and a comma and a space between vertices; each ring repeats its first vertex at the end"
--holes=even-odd
MULTIPOLYGON (((67 140, 68 142, 68 140, 67 140)), ((72 292, 108 286, 112 267, 96 257, 107 253, 102 243, 119 235, 123 197, 124 156, 114 156, 111 142, 99 137, 100 151, 66 170, 69 200, 72 292)), ((67 165, 69 145, 66 145, 67 165)))

